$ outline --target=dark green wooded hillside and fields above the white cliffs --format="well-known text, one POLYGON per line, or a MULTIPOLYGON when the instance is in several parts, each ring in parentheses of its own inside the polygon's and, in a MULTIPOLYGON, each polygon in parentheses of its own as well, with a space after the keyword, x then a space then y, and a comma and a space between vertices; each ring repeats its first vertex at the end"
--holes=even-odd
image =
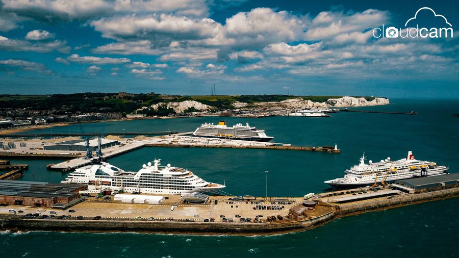
MULTIPOLYGON (((195 100, 217 109, 232 109, 235 101, 256 103, 267 101, 282 101, 301 97, 304 100, 324 102, 329 98, 342 96, 292 96, 292 95, 163 95, 156 93, 73 93, 52 95, 0 95, 0 115, 6 110, 37 110, 50 111, 53 114, 83 114, 91 112, 121 112, 130 114, 141 107, 147 107, 160 102, 181 102, 195 100)), ((365 97, 373 100, 374 97, 365 97)), ((145 110, 147 115, 163 115, 171 110, 145 110)))

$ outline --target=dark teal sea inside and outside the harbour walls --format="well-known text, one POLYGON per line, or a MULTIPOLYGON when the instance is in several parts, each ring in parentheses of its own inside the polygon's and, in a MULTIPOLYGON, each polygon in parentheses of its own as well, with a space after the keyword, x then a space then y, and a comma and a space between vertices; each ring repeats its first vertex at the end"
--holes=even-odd
MULTIPOLYGON (((459 172, 459 99, 391 99, 391 104, 352 110, 418 112, 417 115, 341 112, 311 117, 190 117, 107 121, 106 132, 194 131, 201 123, 225 120, 266 131, 273 142, 298 146, 334 146, 341 153, 293 150, 144 147, 109 160, 138 170, 155 158, 185 167, 209 182, 226 185, 232 195, 302 196, 327 191, 325 180, 342 177, 359 163, 412 150, 416 159, 435 161, 459 172)), ((84 124, 85 132, 103 130, 84 124)), ((78 125, 47 128, 47 133, 80 132, 78 125)), ((126 135, 128 137, 129 135, 126 135)), ((33 139, 29 145, 41 144, 33 139)), ((11 160, 28 163, 19 180, 60 182, 66 174, 47 171, 58 160, 11 160)), ((329 190, 329 189, 328 189, 329 190)), ((194 236, 126 233, 0 231, 0 257, 457 257, 459 198, 343 217, 318 228, 271 236, 194 236)))

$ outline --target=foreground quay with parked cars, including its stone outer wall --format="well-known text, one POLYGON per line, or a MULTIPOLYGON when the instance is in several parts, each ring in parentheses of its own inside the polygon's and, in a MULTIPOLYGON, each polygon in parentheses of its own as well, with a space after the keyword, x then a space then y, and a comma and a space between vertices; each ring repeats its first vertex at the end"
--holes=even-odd
POLYGON ((182 203, 177 195, 171 195, 160 204, 102 201, 89 197, 73 205, 71 214, 65 210, 10 204, 0 207, 0 228, 230 235, 289 233, 312 229, 343 216, 458 197, 459 174, 404 179, 391 186, 319 193, 309 199, 307 196, 252 196, 248 199, 209 196, 211 199, 202 204, 182 203), (170 209, 174 204, 175 209, 170 209), (13 214, 9 209, 23 213, 13 214), (24 216, 37 210, 40 214, 34 218, 24 216), (42 218, 50 211, 54 211, 56 217, 42 218), (231 221, 235 218, 234 222, 227 221, 229 218, 231 221))

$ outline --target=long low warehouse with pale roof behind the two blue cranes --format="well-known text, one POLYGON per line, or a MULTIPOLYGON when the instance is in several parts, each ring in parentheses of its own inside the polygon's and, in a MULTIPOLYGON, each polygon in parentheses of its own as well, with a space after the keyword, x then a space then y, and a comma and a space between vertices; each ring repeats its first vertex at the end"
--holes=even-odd
MULTIPOLYGON (((119 145, 117 140, 101 139, 100 147, 102 149, 119 145)), ((89 140, 89 149, 95 151, 98 148, 98 139, 89 140)), ((86 151, 86 144, 82 140, 63 141, 43 146, 45 150, 76 150, 86 151)))

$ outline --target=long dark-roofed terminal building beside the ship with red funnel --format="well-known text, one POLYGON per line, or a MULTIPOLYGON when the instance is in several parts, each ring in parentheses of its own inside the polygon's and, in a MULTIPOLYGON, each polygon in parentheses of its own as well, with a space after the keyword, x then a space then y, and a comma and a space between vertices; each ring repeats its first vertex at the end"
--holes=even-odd
POLYGON ((459 173, 403 179, 391 186, 406 193, 453 188, 459 186, 459 173))

